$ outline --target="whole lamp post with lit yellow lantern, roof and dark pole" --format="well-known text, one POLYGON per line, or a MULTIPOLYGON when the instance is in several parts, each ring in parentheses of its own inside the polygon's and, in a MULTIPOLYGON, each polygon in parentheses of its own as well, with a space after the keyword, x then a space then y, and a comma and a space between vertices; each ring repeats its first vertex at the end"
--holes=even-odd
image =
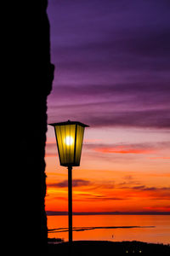
POLYGON ((60 166, 68 168, 69 243, 72 242, 72 166, 80 166, 84 129, 88 125, 68 120, 54 126, 60 166))

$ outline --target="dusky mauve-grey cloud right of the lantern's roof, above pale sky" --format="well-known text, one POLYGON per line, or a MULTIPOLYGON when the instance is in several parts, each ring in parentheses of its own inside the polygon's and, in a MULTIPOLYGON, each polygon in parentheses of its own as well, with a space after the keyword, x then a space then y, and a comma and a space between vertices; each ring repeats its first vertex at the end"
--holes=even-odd
POLYGON ((169 110, 131 110, 96 113, 86 118, 88 124, 93 126, 121 126, 169 129, 169 110))

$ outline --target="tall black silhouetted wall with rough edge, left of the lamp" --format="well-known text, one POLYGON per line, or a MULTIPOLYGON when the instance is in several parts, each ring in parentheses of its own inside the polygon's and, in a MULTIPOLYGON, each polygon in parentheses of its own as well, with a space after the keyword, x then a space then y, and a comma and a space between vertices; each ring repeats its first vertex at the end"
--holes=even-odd
POLYGON ((45 252, 47 246, 44 148, 54 65, 50 62, 47 0, 14 1, 3 13, 1 52, 6 73, 1 96, 7 147, 3 148, 7 156, 3 183, 8 186, 8 203, 3 209, 9 214, 7 230, 13 253, 25 255, 45 252))

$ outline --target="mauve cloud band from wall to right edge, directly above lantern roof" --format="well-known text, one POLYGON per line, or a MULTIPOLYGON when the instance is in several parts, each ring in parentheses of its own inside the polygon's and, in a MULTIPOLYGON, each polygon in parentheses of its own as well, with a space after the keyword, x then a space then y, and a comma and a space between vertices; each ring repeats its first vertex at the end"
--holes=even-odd
POLYGON ((114 103, 88 103, 52 108, 50 122, 54 119, 81 119, 91 127, 134 127, 169 129, 170 111, 165 109, 116 109, 114 103), (90 110, 89 110, 90 109, 90 110))

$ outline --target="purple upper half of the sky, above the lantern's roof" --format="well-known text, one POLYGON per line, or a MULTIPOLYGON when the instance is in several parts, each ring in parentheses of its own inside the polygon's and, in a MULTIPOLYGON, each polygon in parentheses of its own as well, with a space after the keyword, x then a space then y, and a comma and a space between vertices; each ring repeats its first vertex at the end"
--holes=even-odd
POLYGON ((48 0, 48 122, 170 127, 170 2, 48 0))

